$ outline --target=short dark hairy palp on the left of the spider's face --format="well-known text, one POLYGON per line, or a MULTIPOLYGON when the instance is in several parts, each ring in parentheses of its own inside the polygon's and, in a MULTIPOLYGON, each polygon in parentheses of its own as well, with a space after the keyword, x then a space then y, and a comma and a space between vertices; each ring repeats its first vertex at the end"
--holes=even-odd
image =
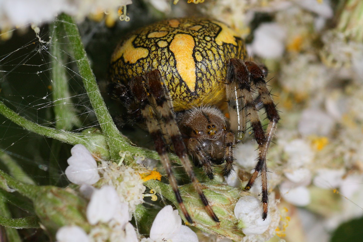
MULTIPOLYGON (((209 154, 205 153, 199 141, 196 138, 189 138, 188 140, 188 151, 197 160, 196 166, 203 167, 205 174, 210 180, 214 179, 214 171, 212 167, 212 158, 209 154)), ((195 162, 196 163, 196 162, 195 162)))

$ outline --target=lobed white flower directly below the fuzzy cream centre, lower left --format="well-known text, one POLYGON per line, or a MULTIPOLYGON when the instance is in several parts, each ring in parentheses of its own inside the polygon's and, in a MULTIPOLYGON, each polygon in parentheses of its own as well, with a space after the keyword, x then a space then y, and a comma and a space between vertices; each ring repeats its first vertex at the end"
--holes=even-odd
POLYGON ((120 202, 115 188, 103 186, 95 190, 87 206, 87 220, 91 225, 98 222, 109 222, 111 219, 117 221, 122 227, 129 222, 129 207, 120 202))

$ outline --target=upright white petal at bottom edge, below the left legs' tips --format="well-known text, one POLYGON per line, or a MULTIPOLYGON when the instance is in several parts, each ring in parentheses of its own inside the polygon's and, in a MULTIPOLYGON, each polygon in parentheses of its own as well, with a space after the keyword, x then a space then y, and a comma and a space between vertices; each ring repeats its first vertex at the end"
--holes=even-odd
POLYGON ((178 210, 173 210, 171 205, 164 207, 156 215, 150 229, 150 238, 153 241, 168 240, 174 237, 175 232, 180 229, 181 218, 178 210))

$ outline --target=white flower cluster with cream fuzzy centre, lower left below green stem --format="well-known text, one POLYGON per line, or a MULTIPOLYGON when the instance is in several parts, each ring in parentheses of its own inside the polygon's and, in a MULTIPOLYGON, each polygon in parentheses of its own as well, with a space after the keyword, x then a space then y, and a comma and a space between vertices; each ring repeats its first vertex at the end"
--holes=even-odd
MULTIPOLYGON (((86 215, 92 227, 89 234, 77 226, 62 227, 56 234, 57 241, 138 242, 139 237, 129 221, 136 205, 143 202, 145 186, 140 175, 131 167, 106 161, 97 167, 91 153, 81 144, 75 145, 71 153, 65 173, 70 181, 81 185, 80 191, 89 198, 86 215)), ((198 238, 191 229, 181 225, 178 210, 169 205, 157 214, 150 238, 141 241, 197 242, 198 238)))

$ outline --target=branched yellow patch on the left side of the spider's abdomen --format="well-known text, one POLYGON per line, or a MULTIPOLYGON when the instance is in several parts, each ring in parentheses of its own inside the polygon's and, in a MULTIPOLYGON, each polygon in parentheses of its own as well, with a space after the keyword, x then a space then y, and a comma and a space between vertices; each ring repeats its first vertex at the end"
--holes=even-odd
POLYGON ((132 42, 135 40, 136 36, 132 36, 113 54, 111 61, 117 61, 123 56, 125 62, 135 63, 141 58, 145 58, 149 54, 149 50, 146 48, 134 48, 132 42))

